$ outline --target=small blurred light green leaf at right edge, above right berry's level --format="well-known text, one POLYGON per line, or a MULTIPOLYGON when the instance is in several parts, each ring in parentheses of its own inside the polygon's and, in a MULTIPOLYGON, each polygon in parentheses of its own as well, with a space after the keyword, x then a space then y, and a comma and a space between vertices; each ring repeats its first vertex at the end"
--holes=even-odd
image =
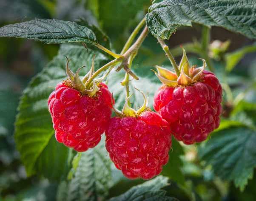
POLYGON ((244 48, 241 48, 234 52, 225 54, 226 71, 232 71, 233 68, 238 64, 238 62, 241 61, 243 57, 245 57, 245 54, 252 52, 256 52, 256 43, 253 45, 245 46, 244 48))

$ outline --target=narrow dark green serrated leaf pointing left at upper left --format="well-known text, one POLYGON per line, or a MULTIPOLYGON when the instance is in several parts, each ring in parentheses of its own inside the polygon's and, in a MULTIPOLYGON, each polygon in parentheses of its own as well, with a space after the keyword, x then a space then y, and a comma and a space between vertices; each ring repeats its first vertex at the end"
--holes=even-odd
POLYGON ((95 43, 93 31, 74 22, 62 20, 31 20, 0 28, 0 37, 34 39, 46 44, 64 42, 95 43))

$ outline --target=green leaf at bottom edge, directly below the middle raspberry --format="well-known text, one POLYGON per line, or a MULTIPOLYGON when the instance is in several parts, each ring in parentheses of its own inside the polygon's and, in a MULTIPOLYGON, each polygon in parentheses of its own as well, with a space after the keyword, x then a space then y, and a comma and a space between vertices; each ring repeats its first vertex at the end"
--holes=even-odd
POLYGON ((168 186, 168 178, 158 176, 143 184, 132 187, 124 194, 111 198, 109 201, 148 201, 149 198, 155 196, 159 198, 159 193, 160 195, 164 195, 165 192, 163 193, 163 191, 159 190, 166 186, 168 186))

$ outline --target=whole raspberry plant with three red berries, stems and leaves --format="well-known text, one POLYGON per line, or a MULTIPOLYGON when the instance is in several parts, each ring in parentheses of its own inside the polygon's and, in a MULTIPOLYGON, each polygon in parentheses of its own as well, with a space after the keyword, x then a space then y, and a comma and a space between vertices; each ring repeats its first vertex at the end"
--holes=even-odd
POLYGON ((60 44, 20 98, 14 139, 26 176, 56 185, 61 201, 232 200, 234 188, 253 186, 255 80, 252 72, 252 82, 233 86, 230 71, 256 46, 227 53, 232 41, 212 42, 210 32, 255 40, 254 0, 88 0, 71 8, 69 21, 46 9, 44 19, 0 28, 0 37, 60 44), (172 37, 191 26, 200 40, 174 47, 172 37))

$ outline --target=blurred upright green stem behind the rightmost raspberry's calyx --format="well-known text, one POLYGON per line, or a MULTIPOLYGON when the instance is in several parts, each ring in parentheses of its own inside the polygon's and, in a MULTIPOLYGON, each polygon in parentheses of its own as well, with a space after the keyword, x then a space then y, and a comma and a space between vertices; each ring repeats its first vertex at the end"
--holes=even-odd
POLYGON ((214 72, 213 63, 208 55, 208 45, 210 43, 210 28, 203 26, 202 28, 202 41, 201 41, 201 57, 205 59, 210 71, 214 72))

